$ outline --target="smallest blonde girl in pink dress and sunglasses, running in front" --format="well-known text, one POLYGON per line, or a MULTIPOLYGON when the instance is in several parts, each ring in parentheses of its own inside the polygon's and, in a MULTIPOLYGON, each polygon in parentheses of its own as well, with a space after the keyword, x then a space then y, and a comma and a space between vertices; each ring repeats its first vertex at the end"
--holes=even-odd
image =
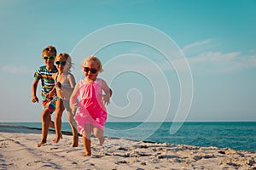
POLYGON ((72 111, 77 108, 74 117, 78 125, 78 131, 82 134, 84 143, 84 156, 90 156, 90 134, 99 139, 100 145, 104 142, 104 124, 107 120, 107 111, 105 105, 109 104, 112 90, 108 84, 101 78, 97 78, 99 72, 102 72, 102 63, 95 56, 90 56, 82 62, 84 71, 84 80, 80 80, 70 97, 70 107, 72 111), (104 95, 102 95, 102 91, 104 95), (79 107, 76 100, 79 97, 79 107))

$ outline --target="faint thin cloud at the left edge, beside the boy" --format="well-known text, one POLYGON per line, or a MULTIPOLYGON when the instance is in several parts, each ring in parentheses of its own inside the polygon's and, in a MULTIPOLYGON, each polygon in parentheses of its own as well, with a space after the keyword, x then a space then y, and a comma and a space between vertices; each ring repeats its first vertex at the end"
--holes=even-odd
POLYGON ((3 65, 0 68, 0 71, 8 74, 26 74, 26 73, 33 72, 32 70, 29 70, 24 66, 16 66, 16 65, 3 65))

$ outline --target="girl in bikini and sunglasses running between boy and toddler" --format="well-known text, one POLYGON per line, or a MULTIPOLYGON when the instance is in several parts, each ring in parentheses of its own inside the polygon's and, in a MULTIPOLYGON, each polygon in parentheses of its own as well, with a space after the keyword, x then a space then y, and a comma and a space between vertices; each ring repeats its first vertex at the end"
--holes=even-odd
MULTIPOLYGON (((53 74, 55 79, 55 139, 54 143, 58 143, 62 139, 61 135, 61 116, 63 111, 66 109, 68 122, 72 128, 73 133, 73 147, 79 145, 79 136, 76 129, 76 122, 73 119, 74 114, 69 107, 69 98, 73 93, 73 88, 76 85, 75 78, 71 73, 70 69, 72 67, 72 59, 69 54, 61 53, 55 58, 55 65, 58 72, 53 74)), ((74 111, 75 112, 75 111, 74 111)))

